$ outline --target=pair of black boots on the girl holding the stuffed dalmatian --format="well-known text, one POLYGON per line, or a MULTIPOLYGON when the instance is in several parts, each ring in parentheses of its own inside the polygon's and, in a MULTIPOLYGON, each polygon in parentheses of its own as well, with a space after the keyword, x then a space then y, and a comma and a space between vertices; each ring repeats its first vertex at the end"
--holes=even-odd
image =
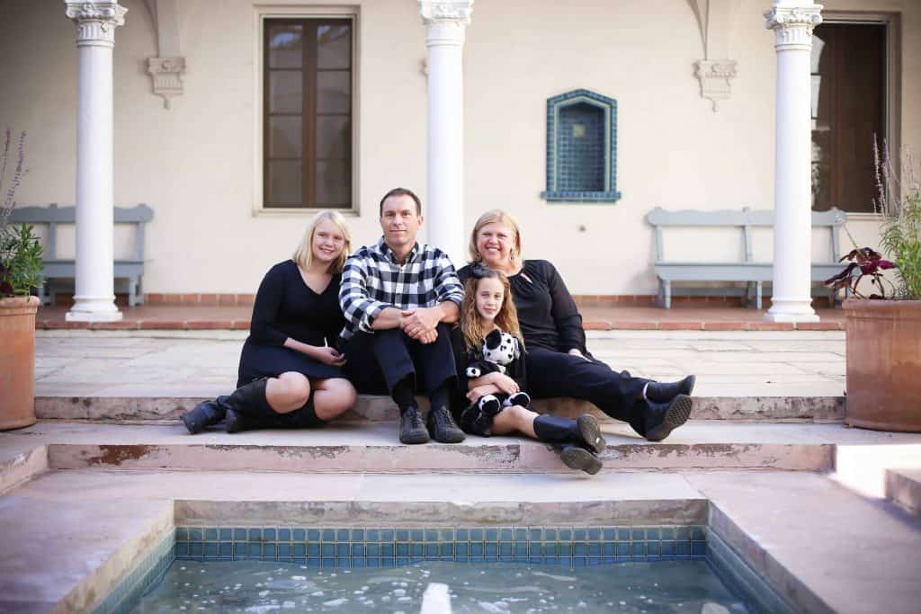
POLYGON ((577 420, 543 414, 534 419, 534 434, 548 444, 563 446, 560 458, 569 469, 581 469, 594 475, 601 469, 598 455, 607 442, 595 417, 583 413, 577 420))

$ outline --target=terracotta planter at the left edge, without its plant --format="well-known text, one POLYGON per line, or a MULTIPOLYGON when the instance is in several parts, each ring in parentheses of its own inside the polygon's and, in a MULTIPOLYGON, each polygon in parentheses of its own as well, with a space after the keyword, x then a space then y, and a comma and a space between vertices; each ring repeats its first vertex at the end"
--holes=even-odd
POLYGON ((0 431, 35 423, 36 296, 0 298, 0 431))

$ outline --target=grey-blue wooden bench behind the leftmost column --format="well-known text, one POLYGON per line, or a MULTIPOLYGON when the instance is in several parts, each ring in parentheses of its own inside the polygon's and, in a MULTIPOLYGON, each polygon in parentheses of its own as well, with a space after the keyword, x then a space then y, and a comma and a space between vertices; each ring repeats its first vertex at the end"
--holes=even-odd
MULTIPOLYGON (((134 224, 134 259, 116 260, 116 288, 128 293, 128 305, 144 304, 144 225, 154 218, 154 210, 146 204, 135 207, 115 207, 115 224, 134 224), (124 280, 124 284, 118 284, 124 280)), ((39 289, 42 305, 53 305, 56 294, 62 288, 52 280, 73 280, 76 264, 73 260, 57 257, 57 226, 76 224, 76 207, 59 207, 51 204, 47 207, 22 207, 13 209, 10 221, 15 224, 48 226, 48 235, 44 246, 44 260, 41 262, 45 276, 45 285, 39 289)))

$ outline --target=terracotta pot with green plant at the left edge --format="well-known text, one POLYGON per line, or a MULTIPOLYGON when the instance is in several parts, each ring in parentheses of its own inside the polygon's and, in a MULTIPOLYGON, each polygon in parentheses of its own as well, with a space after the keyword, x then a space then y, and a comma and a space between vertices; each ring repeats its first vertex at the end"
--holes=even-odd
POLYGON ((16 189, 23 168, 26 133, 17 139, 16 168, 4 188, 9 160, 10 131, 0 154, 0 430, 35 423, 35 312, 39 299, 33 288, 41 284, 41 243, 31 226, 13 226, 16 189))

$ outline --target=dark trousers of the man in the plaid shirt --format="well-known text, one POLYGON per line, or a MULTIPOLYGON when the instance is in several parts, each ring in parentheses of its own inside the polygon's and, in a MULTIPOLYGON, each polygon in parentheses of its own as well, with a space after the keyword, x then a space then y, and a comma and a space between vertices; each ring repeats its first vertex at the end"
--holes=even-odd
POLYGON ((407 376, 414 391, 431 393, 457 378, 448 324, 438 324, 435 342, 420 343, 402 329, 356 332, 345 343, 345 375, 358 392, 390 394, 407 376))

